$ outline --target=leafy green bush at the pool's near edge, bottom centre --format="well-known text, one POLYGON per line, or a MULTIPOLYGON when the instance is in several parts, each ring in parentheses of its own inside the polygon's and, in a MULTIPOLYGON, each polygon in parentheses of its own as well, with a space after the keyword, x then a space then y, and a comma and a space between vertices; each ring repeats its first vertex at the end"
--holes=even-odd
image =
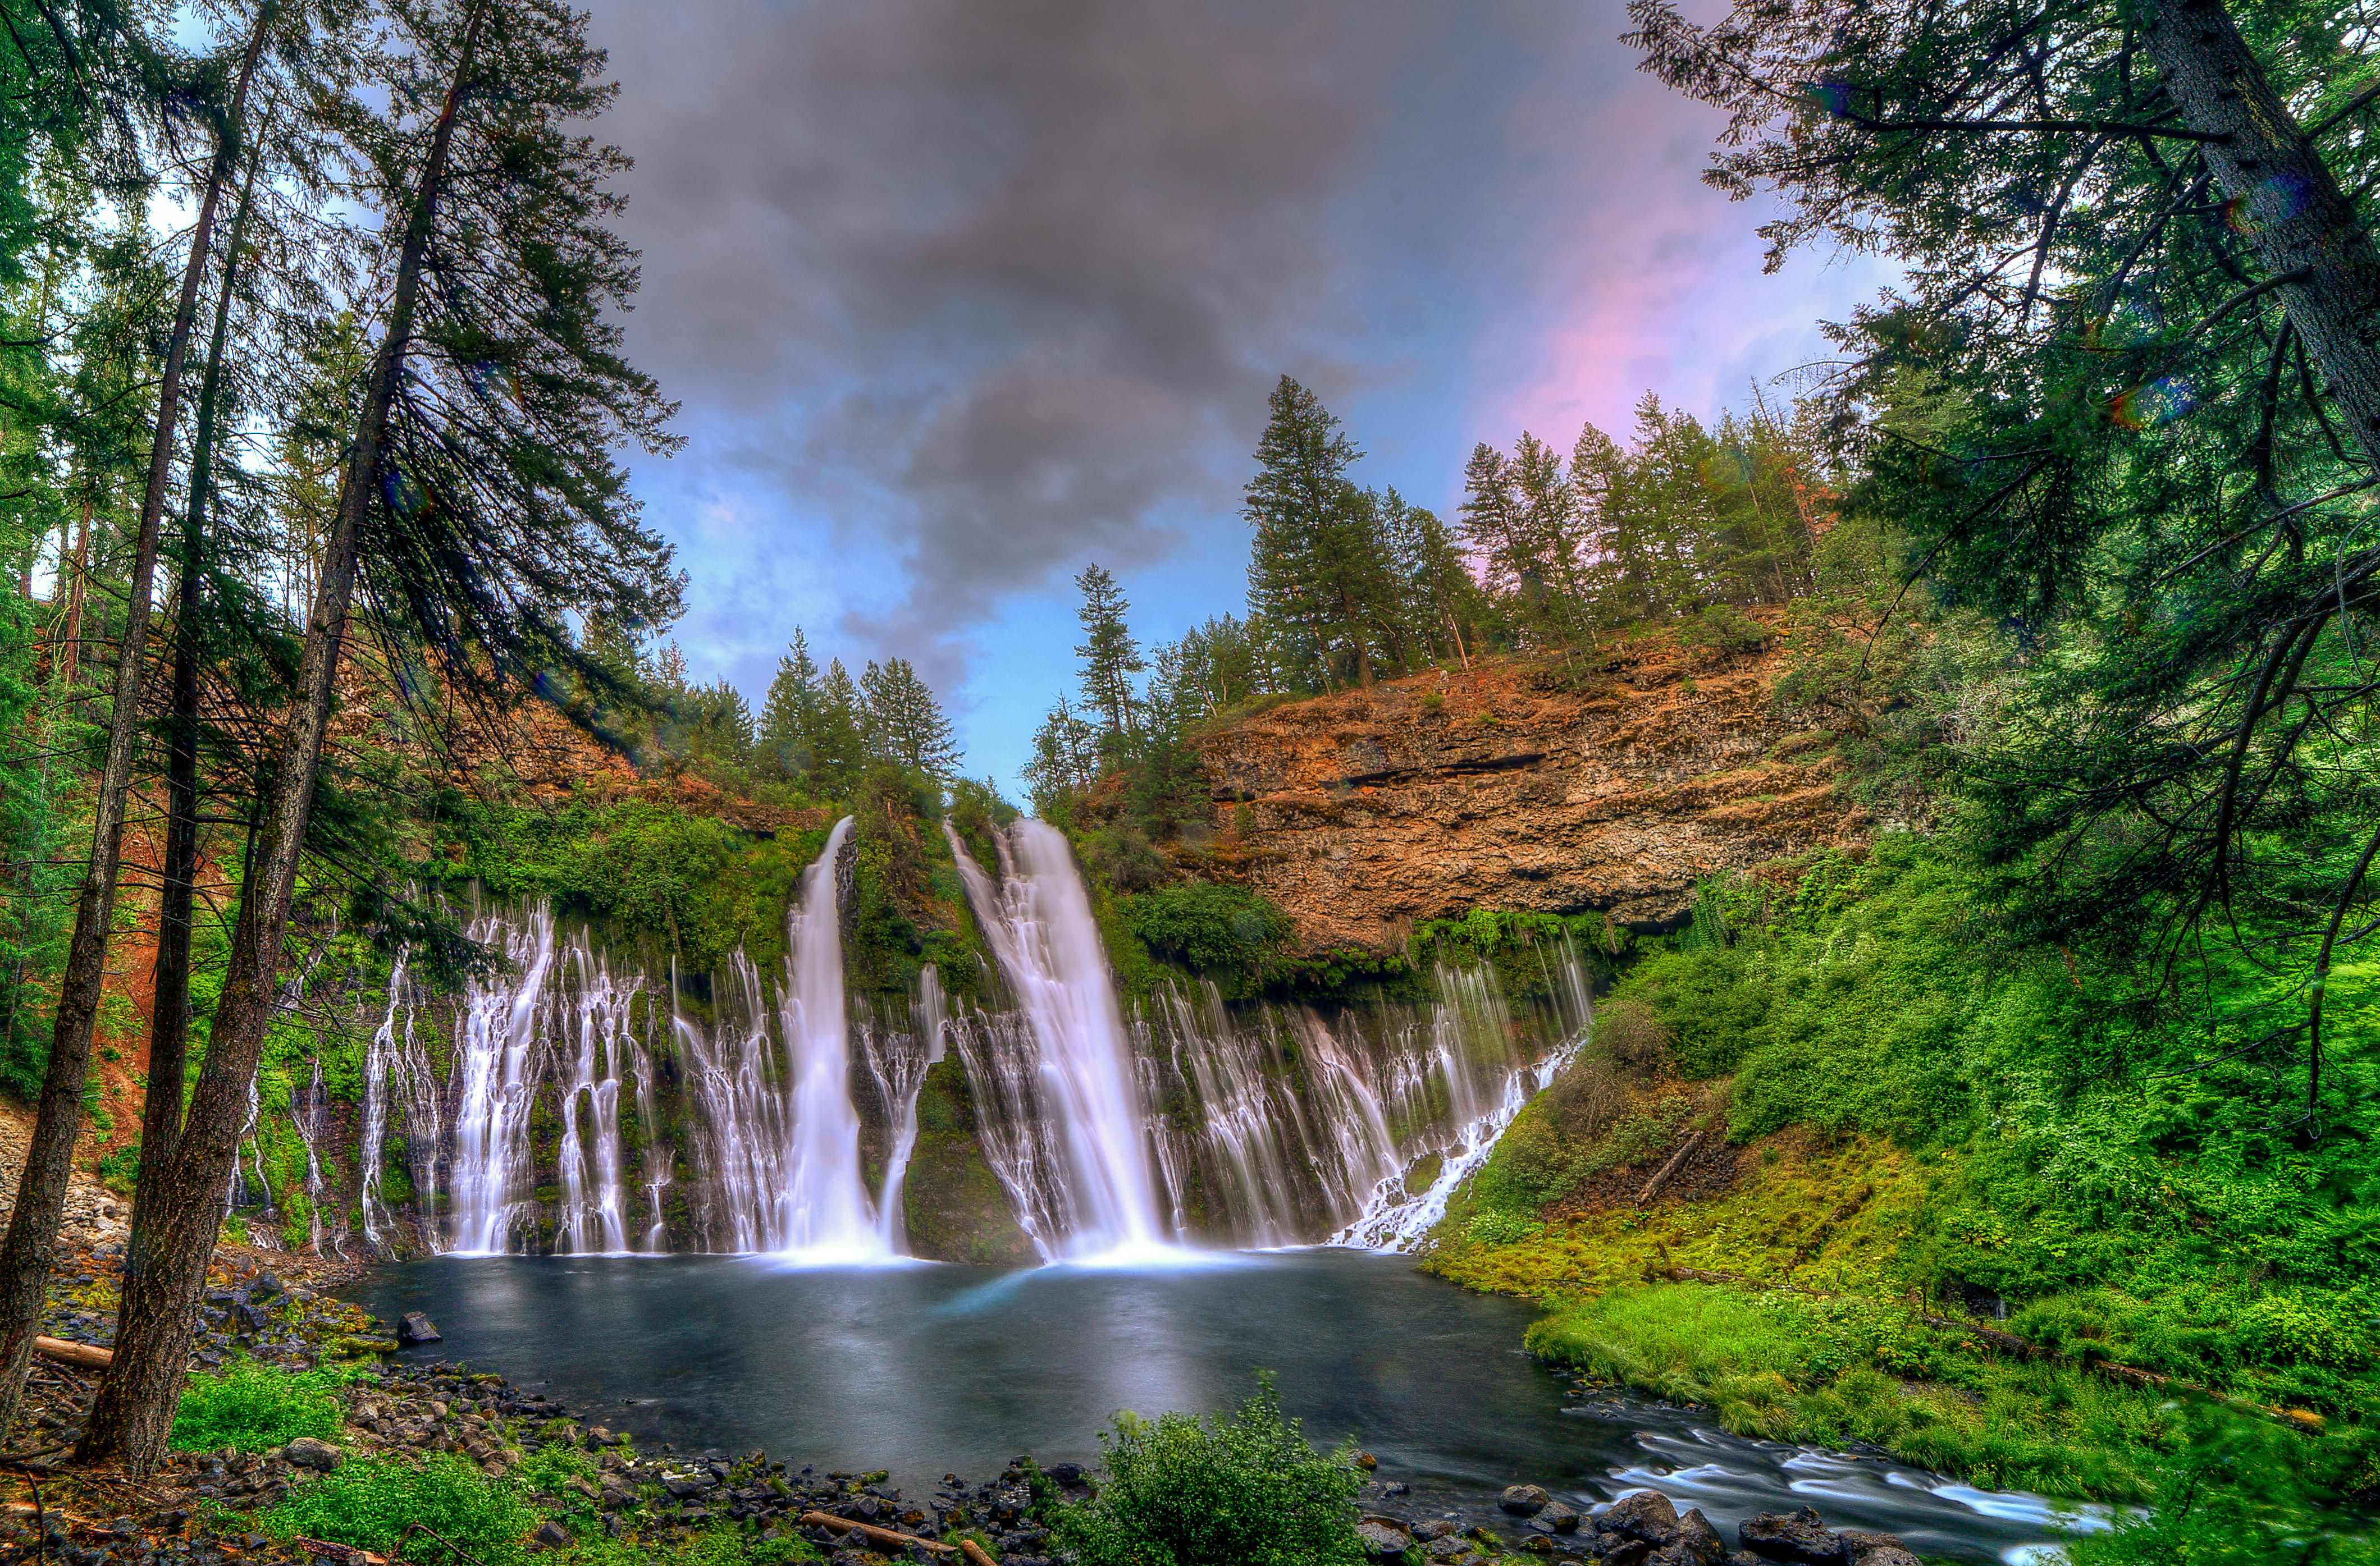
POLYGON ((1116 1416, 1100 1433, 1107 1485, 1057 1511, 1081 1566, 1354 1566, 1354 1492, 1345 1449, 1307 1445, 1280 1416, 1271 1376, 1235 1416, 1116 1416))

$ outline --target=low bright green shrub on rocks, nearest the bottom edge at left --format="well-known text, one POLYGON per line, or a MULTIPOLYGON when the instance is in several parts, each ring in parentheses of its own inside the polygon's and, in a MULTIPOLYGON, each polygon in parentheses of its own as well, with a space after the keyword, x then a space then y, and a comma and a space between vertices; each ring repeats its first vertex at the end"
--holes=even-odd
POLYGON ((359 1545, 414 1561, 445 1559, 433 1540, 405 1537, 424 1523, 457 1549, 500 1564, 521 1554, 538 1514, 516 1480, 495 1480, 452 1452, 433 1452, 414 1464, 400 1457, 359 1457, 305 1485, 264 1514, 267 1533, 307 1535, 359 1545))

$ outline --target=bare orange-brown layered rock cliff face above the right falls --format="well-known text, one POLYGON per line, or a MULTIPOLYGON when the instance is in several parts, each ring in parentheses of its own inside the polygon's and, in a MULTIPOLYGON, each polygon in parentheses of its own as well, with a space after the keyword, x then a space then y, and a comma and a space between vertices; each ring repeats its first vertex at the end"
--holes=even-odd
POLYGON ((1307 950, 1395 950, 1483 907, 1676 928, 1714 871, 1864 840, 1833 735, 1771 709, 1780 654, 1645 638, 1602 657, 1228 721, 1200 743, 1219 835, 1183 866, 1273 897, 1307 950))

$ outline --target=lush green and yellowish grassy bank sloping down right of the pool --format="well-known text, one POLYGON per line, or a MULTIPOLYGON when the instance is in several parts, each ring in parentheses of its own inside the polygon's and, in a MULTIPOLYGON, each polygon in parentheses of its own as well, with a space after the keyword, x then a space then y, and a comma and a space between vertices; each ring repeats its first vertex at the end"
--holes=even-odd
POLYGON ((2244 1483, 2209 1454, 2273 1433, 2259 1461, 2304 1504, 2370 1495, 2373 973, 2332 981, 2340 1085, 2306 1121, 2301 1078, 2254 1047, 2287 1002, 2259 971, 2182 1014, 1978 907, 1909 838, 1711 888, 1614 985, 1430 1266, 1547 1304, 1535 1352, 1745 1435, 2171 1516, 2209 1473, 2244 1483))

